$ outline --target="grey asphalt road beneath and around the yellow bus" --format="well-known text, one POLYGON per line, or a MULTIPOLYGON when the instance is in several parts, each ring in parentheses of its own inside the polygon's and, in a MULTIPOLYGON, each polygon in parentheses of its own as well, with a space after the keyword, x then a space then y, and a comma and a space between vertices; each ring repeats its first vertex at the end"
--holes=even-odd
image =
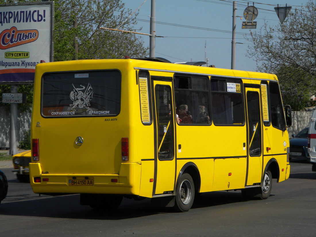
POLYGON ((113 213, 79 204, 79 195, 34 194, 11 168, 8 197, 0 205, 0 236, 315 236, 316 172, 291 162, 290 178, 266 200, 245 200, 240 191, 201 194, 186 213, 155 209, 150 200, 123 199, 113 213))

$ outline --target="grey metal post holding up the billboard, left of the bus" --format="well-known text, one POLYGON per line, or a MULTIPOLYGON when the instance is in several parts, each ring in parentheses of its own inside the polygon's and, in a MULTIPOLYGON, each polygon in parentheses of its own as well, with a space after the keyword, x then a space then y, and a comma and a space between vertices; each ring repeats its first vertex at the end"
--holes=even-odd
MULTIPOLYGON (((11 85, 11 93, 18 93, 18 86, 11 85)), ((17 125, 17 104, 10 104, 10 149, 8 155, 15 155, 18 153, 16 145, 16 125, 17 125)))

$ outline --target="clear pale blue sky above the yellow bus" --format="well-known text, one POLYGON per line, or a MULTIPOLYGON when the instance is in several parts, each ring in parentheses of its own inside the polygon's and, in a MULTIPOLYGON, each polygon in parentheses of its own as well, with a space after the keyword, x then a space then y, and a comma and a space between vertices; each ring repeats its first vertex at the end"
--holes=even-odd
MULTIPOLYGON (((134 30, 139 33, 150 33, 151 0, 122 0, 126 9, 137 10, 137 24, 134 30), (139 30, 141 29, 141 30, 139 30)), ((244 36, 250 31, 259 31, 264 21, 269 26, 280 24, 275 7, 305 6, 307 0, 261 0, 254 2, 258 9, 257 29, 242 29, 244 10, 248 1, 239 0, 236 15, 236 57, 235 69, 256 71, 254 58, 247 57, 251 42, 244 36)), ((249 2, 252 6, 253 2, 249 2)), ((189 62, 207 61, 208 65, 217 68, 231 68, 233 1, 226 0, 155 0, 156 37, 155 57, 169 61, 189 62)), ((139 35, 144 46, 149 46, 149 36, 139 35)), ((149 54, 148 54, 149 57, 149 54)))

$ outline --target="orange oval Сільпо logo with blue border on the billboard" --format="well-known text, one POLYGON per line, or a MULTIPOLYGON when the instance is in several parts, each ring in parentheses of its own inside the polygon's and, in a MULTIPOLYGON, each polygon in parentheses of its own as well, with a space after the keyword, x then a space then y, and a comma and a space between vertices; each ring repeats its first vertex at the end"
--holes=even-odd
POLYGON ((38 30, 17 30, 16 27, 5 29, 0 33, 0 49, 31 43, 39 37, 38 30))

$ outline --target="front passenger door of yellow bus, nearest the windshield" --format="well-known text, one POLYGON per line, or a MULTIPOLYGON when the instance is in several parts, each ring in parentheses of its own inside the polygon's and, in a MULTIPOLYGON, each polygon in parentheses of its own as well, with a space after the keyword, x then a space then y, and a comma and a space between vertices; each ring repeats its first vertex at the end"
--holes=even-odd
POLYGON ((260 185, 263 172, 262 122, 259 94, 260 90, 257 88, 246 88, 248 129, 246 186, 260 185))

